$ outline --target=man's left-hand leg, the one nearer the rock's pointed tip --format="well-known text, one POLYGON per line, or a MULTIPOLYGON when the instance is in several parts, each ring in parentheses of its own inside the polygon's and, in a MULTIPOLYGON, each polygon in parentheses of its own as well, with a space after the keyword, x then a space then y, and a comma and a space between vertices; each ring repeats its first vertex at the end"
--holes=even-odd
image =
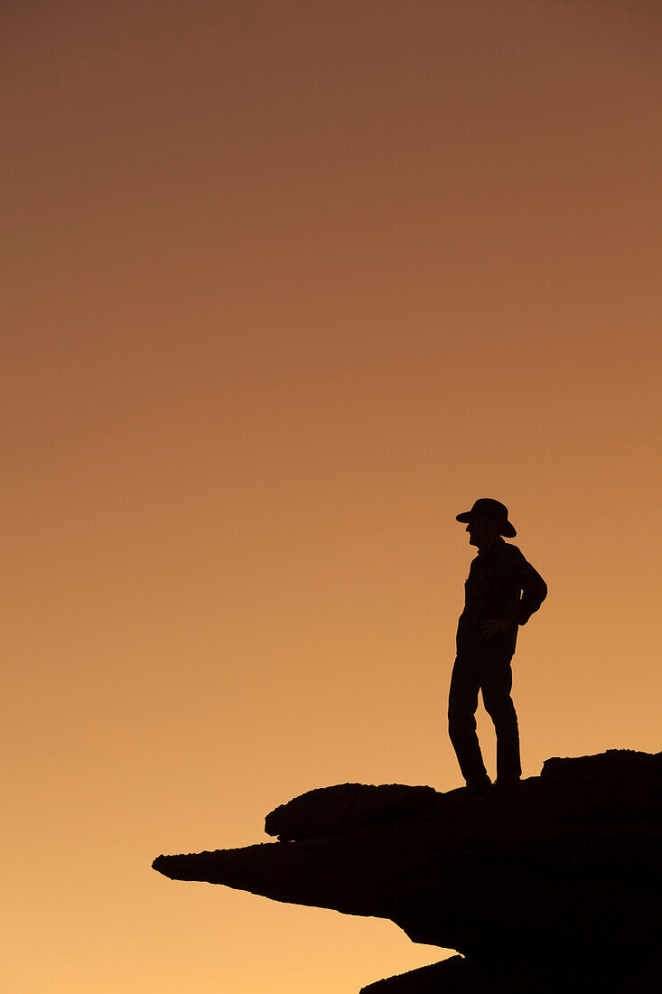
POLYGON ((467 786, 488 786, 490 779, 476 735, 476 708, 480 681, 473 660, 458 655, 448 695, 448 735, 467 786))

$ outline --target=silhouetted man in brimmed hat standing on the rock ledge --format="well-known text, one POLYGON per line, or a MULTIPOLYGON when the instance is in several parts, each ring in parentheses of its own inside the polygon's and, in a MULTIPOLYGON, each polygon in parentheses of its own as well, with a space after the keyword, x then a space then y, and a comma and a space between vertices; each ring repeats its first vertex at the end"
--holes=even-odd
POLYGON ((481 497, 470 511, 457 515, 467 522, 469 545, 478 555, 464 583, 464 610, 457 625, 457 657, 448 698, 448 734, 462 775, 472 793, 491 786, 476 736, 478 691, 494 722, 497 737, 495 786, 516 786, 522 775, 520 736, 510 696, 518 627, 526 624, 547 596, 547 583, 527 563, 517 546, 503 541, 517 532, 508 508, 481 497))

